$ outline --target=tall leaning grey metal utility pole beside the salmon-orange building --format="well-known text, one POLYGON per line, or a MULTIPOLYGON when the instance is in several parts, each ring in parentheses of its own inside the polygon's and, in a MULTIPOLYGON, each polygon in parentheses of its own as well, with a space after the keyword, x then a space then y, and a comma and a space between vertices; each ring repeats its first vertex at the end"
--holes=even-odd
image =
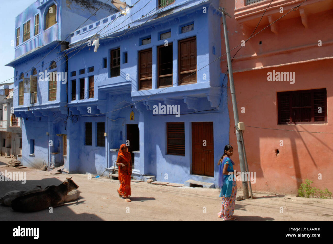
MULTIPOLYGON (((234 116, 234 119, 235 119, 235 126, 237 126, 238 122, 239 122, 239 118, 238 118, 235 86, 233 84, 229 39, 228 39, 227 25, 226 25, 226 20, 225 20, 225 15, 228 15, 230 18, 231 18, 231 16, 227 12, 225 12, 224 8, 220 9, 220 10, 222 12, 222 19, 223 19, 223 30, 224 30, 224 39, 225 39, 225 49, 226 49, 226 53, 227 53, 227 62, 228 62, 228 71, 229 71, 229 81, 230 81, 230 92, 231 92, 231 99, 232 99, 233 116, 234 116)), ((246 168, 245 168, 245 163, 244 163, 242 130, 239 130, 238 127, 236 127, 236 137, 237 137, 240 171, 242 171, 242 175, 243 175, 243 172, 246 172, 246 168)), ((248 199, 249 198, 249 190, 248 190, 247 181, 243 181, 243 179, 242 179, 242 186, 243 186, 243 198, 248 199)))

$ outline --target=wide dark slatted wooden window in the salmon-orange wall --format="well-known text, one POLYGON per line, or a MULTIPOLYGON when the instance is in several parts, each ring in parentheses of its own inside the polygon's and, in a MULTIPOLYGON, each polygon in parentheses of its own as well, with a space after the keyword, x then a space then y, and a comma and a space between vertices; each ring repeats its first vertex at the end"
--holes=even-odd
POLYGON ((278 92, 278 123, 327 122, 326 89, 278 92))

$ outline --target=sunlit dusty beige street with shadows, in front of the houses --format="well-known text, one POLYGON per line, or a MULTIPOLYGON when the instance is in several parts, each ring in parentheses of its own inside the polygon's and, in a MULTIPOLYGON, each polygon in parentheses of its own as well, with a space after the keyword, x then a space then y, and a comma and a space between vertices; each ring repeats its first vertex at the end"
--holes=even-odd
MULTIPOLYGON (((27 172, 27 182, 1 181, 0 195, 11 190, 28 190, 36 185, 43 188, 58 185, 68 175, 50 175, 38 169, 17 169, 6 166, 1 157, 0 171, 27 172)), ((79 185, 81 196, 77 201, 53 209, 34 213, 14 212, 0 206, 1 221, 222 221, 217 217, 221 198, 216 189, 172 187, 131 182, 132 202, 119 198, 118 180, 88 179, 84 174, 71 174, 79 185), (204 211, 206 210, 206 211, 204 211)), ((237 192, 237 196, 242 191, 237 192)), ((291 195, 255 193, 255 199, 236 201, 234 216, 239 221, 332 221, 333 199, 299 198, 291 195), (290 199, 288 199, 290 198, 290 199), (283 213, 280 213, 283 207, 283 213)))

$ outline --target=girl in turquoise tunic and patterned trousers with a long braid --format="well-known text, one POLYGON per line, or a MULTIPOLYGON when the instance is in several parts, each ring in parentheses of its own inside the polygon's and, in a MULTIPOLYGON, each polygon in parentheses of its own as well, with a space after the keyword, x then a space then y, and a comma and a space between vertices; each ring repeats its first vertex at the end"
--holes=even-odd
POLYGON ((224 147, 224 153, 218 161, 219 174, 218 174, 218 189, 220 190, 220 197, 222 197, 222 208, 217 214, 219 218, 223 218, 224 221, 236 220, 232 216, 235 210, 235 201, 237 193, 236 178, 234 176, 233 165, 235 163, 230 159, 233 154, 233 148, 231 145, 224 147), (229 172, 232 172, 229 174, 229 172))

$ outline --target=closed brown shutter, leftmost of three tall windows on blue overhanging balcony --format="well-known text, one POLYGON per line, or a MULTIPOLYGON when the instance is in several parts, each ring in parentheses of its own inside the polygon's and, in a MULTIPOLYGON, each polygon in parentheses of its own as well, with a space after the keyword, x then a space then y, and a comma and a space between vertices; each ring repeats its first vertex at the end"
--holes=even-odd
POLYGON ((152 89, 152 49, 139 52, 139 89, 152 89))

